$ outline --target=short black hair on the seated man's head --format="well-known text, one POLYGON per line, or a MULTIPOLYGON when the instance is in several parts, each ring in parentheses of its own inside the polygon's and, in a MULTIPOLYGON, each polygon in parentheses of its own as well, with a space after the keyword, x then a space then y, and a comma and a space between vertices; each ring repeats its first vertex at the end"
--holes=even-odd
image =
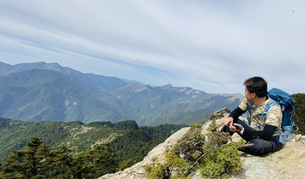
POLYGON ((247 87, 249 93, 255 93, 257 97, 261 98, 267 95, 267 82, 262 77, 251 77, 243 82, 247 87))

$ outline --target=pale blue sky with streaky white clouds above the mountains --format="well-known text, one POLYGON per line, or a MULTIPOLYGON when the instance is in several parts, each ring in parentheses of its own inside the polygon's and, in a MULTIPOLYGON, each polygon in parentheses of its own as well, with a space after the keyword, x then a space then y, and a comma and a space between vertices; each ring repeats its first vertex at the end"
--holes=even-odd
POLYGON ((305 1, 0 1, 0 61, 241 93, 305 93, 305 1))

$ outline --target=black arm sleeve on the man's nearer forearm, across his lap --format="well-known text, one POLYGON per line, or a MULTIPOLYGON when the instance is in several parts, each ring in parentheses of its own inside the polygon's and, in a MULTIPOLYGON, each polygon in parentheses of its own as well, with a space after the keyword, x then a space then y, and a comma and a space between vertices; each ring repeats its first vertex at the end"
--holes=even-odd
POLYGON ((250 129, 245 129, 242 135, 249 136, 251 138, 260 138, 260 139, 268 139, 272 137, 272 134, 276 131, 277 127, 266 124, 264 126, 264 130, 262 131, 254 131, 250 129))

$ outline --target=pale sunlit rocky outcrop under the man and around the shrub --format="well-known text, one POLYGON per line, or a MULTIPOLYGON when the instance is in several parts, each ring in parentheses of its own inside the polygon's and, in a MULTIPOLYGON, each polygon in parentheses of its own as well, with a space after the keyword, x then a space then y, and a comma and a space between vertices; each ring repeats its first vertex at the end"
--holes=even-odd
MULTIPOLYGON (((210 115, 215 118, 216 122, 222 124, 228 117, 230 110, 222 109, 210 115)), ((210 121, 203 125, 202 133, 205 134, 210 121)), ((106 174, 98 179, 110 178, 146 178, 144 166, 151 162, 151 159, 157 157, 158 162, 165 160, 165 149, 169 145, 173 145, 180 137, 182 137, 189 128, 183 128, 174 133, 163 143, 156 146, 150 151, 143 161, 134 166, 112 174, 106 174)), ((239 141, 239 135, 232 136, 233 141, 239 141)), ((292 135, 289 142, 286 142, 281 151, 271 153, 265 156, 256 157, 243 153, 240 158, 242 169, 235 173, 231 178, 305 178, 305 136, 292 135)), ((203 178, 199 171, 191 174, 193 179, 203 178)))

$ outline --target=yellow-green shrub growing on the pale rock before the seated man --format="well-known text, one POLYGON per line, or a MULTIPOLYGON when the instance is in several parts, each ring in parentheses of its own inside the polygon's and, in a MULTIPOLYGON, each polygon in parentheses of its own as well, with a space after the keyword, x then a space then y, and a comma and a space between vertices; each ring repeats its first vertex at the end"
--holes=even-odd
POLYGON ((238 147, 243 141, 224 144, 230 139, 227 133, 217 131, 213 121, 209 133, 201 134, 201 124, 194 124, 191 129, 169 148, 165 163, 145 166, 148 178, 190 178, 189 174, 199 169, 204 178, 227 178, 241 169, 238 147))

